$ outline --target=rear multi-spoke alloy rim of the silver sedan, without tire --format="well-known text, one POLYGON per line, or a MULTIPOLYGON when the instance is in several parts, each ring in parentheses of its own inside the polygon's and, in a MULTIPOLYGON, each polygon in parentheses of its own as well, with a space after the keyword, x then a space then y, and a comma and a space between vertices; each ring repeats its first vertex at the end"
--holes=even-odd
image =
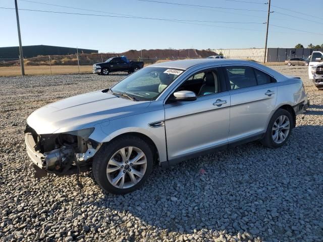
POLYGON ((272 128, 272 137, 276 144, 283 143, 289 134, 290 131, 290 121, 286 115, 279 116, 273 125, 272 128))

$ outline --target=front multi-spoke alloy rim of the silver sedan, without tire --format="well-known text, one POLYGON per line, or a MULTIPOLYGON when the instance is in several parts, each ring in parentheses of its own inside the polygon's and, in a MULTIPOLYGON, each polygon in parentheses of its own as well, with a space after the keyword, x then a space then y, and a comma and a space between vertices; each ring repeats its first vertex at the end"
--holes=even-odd
POLYGON ((145 153, 133 146, 118 150, 107 162, 106 176, 110 184, 119 189, 135 186, 147 169, 145 153))

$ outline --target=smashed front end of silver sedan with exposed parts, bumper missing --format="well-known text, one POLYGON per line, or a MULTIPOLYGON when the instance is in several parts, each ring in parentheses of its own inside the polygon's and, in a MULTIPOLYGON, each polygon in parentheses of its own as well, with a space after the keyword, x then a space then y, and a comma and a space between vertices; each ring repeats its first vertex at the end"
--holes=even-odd
POLYGON ((27 126, 25 143, 28 156, 34 163, 36 177, 48 173, 77 174, 91 166, 91 158, 101 144, 88 137, 94 128, 79 131, 38 135, 27 126))

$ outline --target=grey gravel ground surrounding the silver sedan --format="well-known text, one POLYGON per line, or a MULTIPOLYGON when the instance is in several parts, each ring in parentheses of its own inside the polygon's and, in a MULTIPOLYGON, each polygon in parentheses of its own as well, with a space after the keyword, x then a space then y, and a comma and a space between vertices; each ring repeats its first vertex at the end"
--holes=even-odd
POLYGON ((27 116, 47 103, 103 89, 125 75, 0 78, 0 240, 3 241, 322 241, 323 92, 300 76, 311 107, 290 142, 258 142, 155 167, 139 191, 103 194, 91 172, 34 178, 26 154, 27 116))

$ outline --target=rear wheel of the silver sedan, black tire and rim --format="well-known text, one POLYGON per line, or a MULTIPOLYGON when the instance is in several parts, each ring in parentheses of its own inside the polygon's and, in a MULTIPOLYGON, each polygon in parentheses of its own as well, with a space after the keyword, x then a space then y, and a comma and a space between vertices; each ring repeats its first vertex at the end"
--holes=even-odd
POLYGON ((279 148, 284 146, 291 135, 293 117, 285 109, 278 109, 272 116, 265 136, 261 140, 262 145, 268 148, 279 148))

